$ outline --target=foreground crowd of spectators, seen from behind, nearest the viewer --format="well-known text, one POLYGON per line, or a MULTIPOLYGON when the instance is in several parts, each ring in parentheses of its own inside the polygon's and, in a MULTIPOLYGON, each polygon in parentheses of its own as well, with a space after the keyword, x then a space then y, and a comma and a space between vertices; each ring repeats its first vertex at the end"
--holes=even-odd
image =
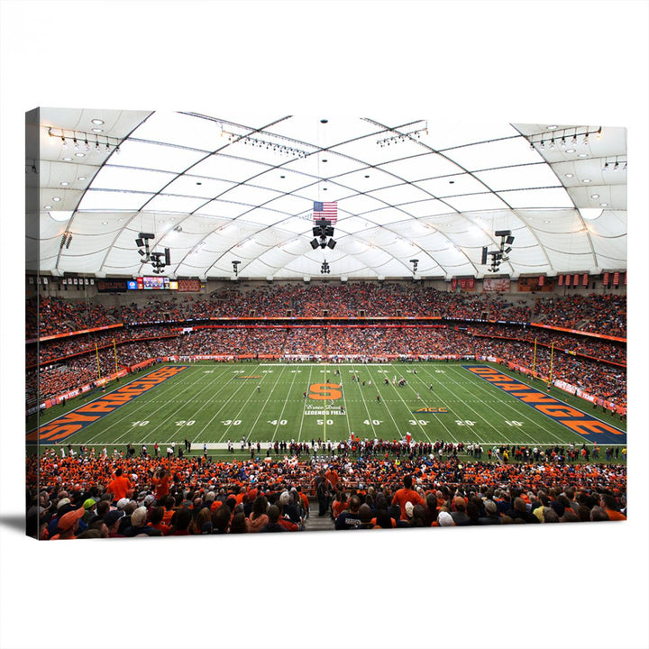
POLYGON ((160 460, 107 449, 27 458, 28 534, 41 539, 298 531, 308 495, 334 527, 471 526, 626 518, 626 466, 367 455, 298 462, 160 460), (324 507, 323 507, 324 505, 324 507))

